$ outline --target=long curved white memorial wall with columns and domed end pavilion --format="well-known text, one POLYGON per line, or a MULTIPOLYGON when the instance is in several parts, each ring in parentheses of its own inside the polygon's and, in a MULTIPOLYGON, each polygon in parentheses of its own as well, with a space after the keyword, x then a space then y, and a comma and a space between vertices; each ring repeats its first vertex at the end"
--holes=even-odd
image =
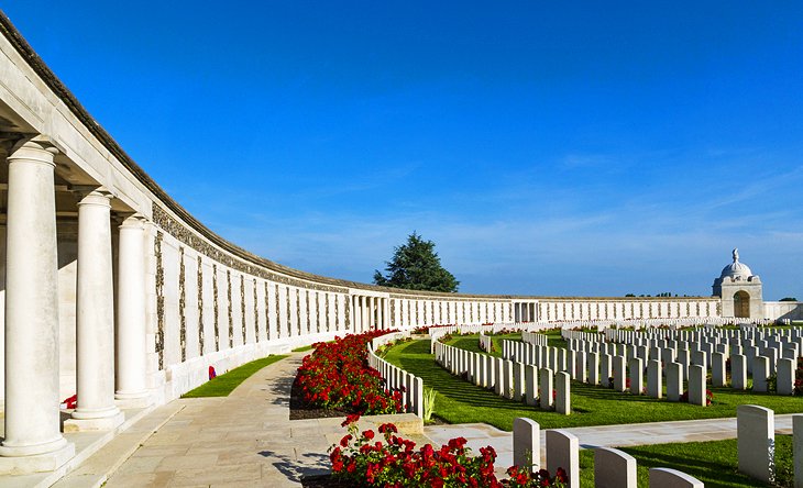
POLYGON ((173 200, 1 13, 0 34, 0 475, 59 469, 75 454, 65 433, 116 433, 205 382, 209 366, 345 333, 763 313, 761 284, 737 255, 714 297, 426 292, 279 265, 173 200), (73 395, 76 408, 62 410, 73 395))

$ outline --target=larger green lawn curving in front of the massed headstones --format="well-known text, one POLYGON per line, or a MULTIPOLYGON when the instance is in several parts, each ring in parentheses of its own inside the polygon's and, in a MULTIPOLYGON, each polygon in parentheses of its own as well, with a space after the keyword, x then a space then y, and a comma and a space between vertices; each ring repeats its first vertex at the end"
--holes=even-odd
MULTIPOLYGON (((476 336, 455 337, 454 341, 459 346, 479 351, 476 336)), ((695 407, 572 381, 572 414, 561 415, 506 400, 450 375, 435 363, 435 356, 429 354, 429 344, 428 340, 402 343, 391 347, 385 358, 419 376, 425 387, 433 388, 437 391, 435 414, 450 423, 485 422, 510 431, 517 417, 534 419, 542 429, 713 419, 736 417, 736 407, 745 403, 767 407, 776 413, 803 412, 801 398, 740 392, 729 388, 713 388, 714 404, 695 407)))

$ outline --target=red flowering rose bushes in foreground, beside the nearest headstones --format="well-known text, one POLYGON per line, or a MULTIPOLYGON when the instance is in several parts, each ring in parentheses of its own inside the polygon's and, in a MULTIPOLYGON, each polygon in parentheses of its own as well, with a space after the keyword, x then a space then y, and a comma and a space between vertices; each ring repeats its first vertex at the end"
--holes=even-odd
POLYGON ((416 443, 403 439, 392 423, 382 424, 376 439, 372 430, 359 432, 356 415, 346 418, 349 434, 329 448, 332 474, 350 486, 363 487, 564 487, 565 473, 559 469, 556 478, 541 470, 537 474, 508 469, 510 479, 499 481, 494 475, 496 452, 493 447, 480 448, 480 456, 472 457, 465 447, 466 440, 457 437, 435 450, 431 444, 416 450, 416 443))

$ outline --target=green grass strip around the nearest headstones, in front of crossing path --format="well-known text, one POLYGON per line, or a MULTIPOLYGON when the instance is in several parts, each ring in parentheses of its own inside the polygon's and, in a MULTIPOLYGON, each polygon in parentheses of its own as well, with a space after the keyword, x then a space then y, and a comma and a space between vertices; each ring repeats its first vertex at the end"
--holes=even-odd
MULTIPOLYGON (((678 444, 653 444, 623 447, 622 451, 636 458, 638 463, 638 486, 649 486, 649 469, 668 467, 678 469, 703 481, 711 487, 758 487, 763 485, 737 472, 736 440, 689 442, 678 444)), ((792 487, 794 467, 792 457, 792 436, 776 436, 776 479, 774 486, 792 487)), ((594 486, 594 452, 580 452, 580 486, 594 486)))

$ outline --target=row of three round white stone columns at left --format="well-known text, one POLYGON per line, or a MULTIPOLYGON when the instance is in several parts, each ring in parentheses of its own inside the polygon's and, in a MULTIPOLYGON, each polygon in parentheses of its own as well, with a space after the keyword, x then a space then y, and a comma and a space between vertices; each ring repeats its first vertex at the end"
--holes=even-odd
MULTIPOLYGON (((6 411, 0 466, 13 459, 47 469, 75 452, 59 428, 56 144, 25 138, 8 160, 6 411)), ((108 430, 123 422, 116 399, 147 402, 145 385, 144 226, 124 218, 119 234, 116 333, 111 244, 113 195, 72 188, 78 202, 76 296, 77 407, 65 430, 108 430), (118 340, 117 365, 114 363, 118 340), (116 381, 117 374, 117 381, 116 381)))

